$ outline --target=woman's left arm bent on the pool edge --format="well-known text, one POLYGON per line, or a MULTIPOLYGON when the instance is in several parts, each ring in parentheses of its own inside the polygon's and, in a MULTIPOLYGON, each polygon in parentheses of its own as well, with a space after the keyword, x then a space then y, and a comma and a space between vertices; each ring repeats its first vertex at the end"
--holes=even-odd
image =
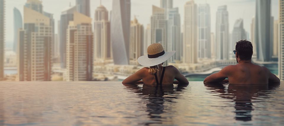
POLYGON ((139 80, 142 80, 145 69, 146 67, 138 70, 133 75, 130 75, 125 80, 123 80, 122 83, 143 83, 142 81, 140 82, 139 80))

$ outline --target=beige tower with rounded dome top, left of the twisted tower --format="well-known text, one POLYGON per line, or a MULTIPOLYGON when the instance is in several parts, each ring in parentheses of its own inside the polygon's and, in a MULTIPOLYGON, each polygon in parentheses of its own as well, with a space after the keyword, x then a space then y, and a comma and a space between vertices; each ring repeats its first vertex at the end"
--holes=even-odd
POLYGON ((95 10, 94 22, 94 60, 102 61, 112 59, 112 46, 110 43, 110 22, 108 11, 100 5, 95 10))

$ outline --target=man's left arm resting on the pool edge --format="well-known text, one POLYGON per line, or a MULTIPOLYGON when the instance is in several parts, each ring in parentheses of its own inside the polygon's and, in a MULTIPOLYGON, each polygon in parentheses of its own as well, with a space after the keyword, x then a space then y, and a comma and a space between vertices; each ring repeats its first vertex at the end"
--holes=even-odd
POLYGON ((224 67, 222 70, 220 70, 217 73, 214 73, 212 75, 209 75, 204 79, 204 83, 216 83, 216 82, 228 82, 228 80, 225 80, 228 77, 229 70, 232 66, 224 67))

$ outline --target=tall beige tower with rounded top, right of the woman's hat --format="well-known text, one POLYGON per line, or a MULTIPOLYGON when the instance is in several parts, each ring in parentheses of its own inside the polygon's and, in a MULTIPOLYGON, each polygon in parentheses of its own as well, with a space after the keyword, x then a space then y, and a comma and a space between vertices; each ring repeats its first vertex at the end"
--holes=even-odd
POLYGON ((197 5, 193 0, 184 5, 183 63, 197 63, 197 5))

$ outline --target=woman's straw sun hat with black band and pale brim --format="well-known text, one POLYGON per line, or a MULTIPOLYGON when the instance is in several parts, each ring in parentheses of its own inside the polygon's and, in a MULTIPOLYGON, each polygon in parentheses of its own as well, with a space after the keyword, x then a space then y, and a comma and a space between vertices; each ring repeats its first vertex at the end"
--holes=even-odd
POLYGON ((147 48, 148 55, 140 56, 137 61, 142 66, 151 67, 170 59, 175 51, 165 52, 162 44, 153 43, 147 48))

